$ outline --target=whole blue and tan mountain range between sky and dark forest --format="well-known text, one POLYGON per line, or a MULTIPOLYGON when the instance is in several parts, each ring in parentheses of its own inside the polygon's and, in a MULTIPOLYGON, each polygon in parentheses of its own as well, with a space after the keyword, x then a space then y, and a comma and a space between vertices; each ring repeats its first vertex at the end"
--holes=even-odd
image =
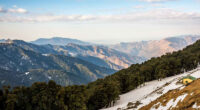
POLYGON ((2 85, 26 86, 51 79, 60 85, 86 84, 131 64, 179 50, 198 38, 170 37, 110 46, 59 37, 31 43, 3 39, 0 43, 0 81, 2 85), (4 76, 5 73, 7 75, 4 76), (16 83, 11 80, 15 77, 16 83))

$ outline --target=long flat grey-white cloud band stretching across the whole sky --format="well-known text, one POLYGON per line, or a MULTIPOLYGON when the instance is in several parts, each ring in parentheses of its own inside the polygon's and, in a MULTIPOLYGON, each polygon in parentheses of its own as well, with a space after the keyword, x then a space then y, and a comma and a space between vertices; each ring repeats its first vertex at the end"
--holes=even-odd
POLYGON ((1 16, 1 22, 52 22, 52 21, 142 21, 142 20, 200 20, 200 13, 181 12, 172 9, 154 9, 119 15, 37 15, 1 16))

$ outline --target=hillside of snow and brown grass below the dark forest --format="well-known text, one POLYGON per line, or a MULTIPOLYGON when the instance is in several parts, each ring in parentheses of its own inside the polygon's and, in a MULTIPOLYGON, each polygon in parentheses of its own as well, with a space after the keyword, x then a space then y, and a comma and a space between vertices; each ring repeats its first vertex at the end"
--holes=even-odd
MULTIPOLYGON (((184 105, 189 101, 186 97, 187 94, 193 95, 194 93, 192 97, 199 94, 199 92, 195 93, 195 91, 199 91, 198 85, 200 84, 200 80, 198 80, 199 84, 196 83, 193 87, 190 86, 193 83, 188 86, 181 83, 181 79, 187 75, 200 78, 200 67, 180 75, 162 79, 161 81, 154 80, 147 82, 145 85, 141 85, 133 91, 120 95, 120 100, 113 107, 106 108, 105 110, 182 110, 187 106, 191 108, 191 103, 182 107, 177 105, 184 105)), ((195 102, 192 103, 195 104, 195 102)))

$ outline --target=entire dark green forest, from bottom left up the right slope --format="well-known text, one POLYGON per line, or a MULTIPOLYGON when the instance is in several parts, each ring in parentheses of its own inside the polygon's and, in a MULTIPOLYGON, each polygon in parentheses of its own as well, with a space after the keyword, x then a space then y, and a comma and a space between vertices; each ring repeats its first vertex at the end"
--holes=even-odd
POLYGON ((88 85, 62 87, 50 81, 13 89, 5 86, 0 90, 0 110, 97 110, 113 105, 119 94, 147 81, 192 70, 199 62, 200 40, 181 51, 133 64, 88 85))

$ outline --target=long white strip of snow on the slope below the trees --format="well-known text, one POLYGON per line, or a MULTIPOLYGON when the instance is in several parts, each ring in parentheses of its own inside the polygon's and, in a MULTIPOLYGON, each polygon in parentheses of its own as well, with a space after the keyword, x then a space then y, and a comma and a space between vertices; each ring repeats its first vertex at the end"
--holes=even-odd
POLYGON ((147 105, 151 101, 157 99, 161 95, 167 93, 169 90, 184 88, 184 85, 177 84, 177 82, 182 77, 187 75, 200 78, 200 67, 183 74, 162 79, 162 81, 154 80, 147 82, 145 86, 141 88, 137 88, 128 93, 120 95, 120 100, 118 100, 113 107, 104 108, 102 110, 117 110, 117 108, 125 109, 127 108, 127 104, 129 102, 135 103, 136 101, 140 101, 142 103, 137 107, 137 109, 139 109, 142 106, 147 105))

